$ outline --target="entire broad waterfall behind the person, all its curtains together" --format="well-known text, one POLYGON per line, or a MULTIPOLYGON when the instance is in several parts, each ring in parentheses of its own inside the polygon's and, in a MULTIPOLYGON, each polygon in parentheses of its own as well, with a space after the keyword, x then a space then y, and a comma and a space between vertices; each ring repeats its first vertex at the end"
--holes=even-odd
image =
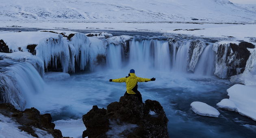
POLYGON ((124 56, 124 48, 121 44, 108 44, 107 67, 121 69, 127 65, 133 69, 149 68, 181 73, 190 70, 197 75, 214 75, 216 53, 213 50, 213 43, 208 43, 206 46, 203 39, 171 43, 158 39, 132 39, 128 47, 129 52, 124 56))

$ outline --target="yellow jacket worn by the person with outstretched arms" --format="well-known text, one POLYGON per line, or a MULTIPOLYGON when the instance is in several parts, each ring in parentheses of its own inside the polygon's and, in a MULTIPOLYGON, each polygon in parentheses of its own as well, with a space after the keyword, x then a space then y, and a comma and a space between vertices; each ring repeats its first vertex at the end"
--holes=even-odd
MULTIPOLYGON (((140 78, 135 75, 135 73, 130 73, 129 77, 113 79, 112 82, 126 82, 126 91, 129 94, 136 94, 132 89, 137 85, 138 82, 148 82, 151 79, 140 78)), ((137 88, 136 88, 137 90, 137 88)))

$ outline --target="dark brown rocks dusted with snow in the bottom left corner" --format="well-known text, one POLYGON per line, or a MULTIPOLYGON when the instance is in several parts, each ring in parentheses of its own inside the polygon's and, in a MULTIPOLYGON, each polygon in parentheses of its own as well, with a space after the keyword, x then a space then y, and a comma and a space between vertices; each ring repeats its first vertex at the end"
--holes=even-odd
POLYGON ((47 131, 49 134, 52 134, 54 138, 63 138, 61 131, 59 129, 54 129, 55 124, 51 123, 51 115, 40 114, 39 110, 36 108, 20 111, 15 109, 11 103, 1 103, 0 113, 16 120, 17 123, 21 125, 19 129, 34 137, 38 138, 35 130, 33 129, 35 127, 47 131))

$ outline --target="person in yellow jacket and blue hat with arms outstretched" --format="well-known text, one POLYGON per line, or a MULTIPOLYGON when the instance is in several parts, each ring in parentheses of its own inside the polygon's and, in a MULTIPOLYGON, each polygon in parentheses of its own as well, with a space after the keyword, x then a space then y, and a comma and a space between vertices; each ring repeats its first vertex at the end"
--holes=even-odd
POLYGON ((138 91, 138 82, 148 82, 148 81, 155 81, 156 78, 140 78, 135 75, 135 70, 131 69, 128 76, 125 78, 119 79, 109 79, 109 82, 126 82, 126 92, 124 95, 135 95, 139 98, 139 101, 142 102, 141 93, 138 91))

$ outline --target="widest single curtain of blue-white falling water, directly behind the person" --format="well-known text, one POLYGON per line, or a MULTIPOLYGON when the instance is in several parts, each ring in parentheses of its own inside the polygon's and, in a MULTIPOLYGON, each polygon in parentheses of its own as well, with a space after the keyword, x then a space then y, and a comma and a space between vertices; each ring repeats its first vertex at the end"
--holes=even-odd
POLYGON ((129 66, 154 68, 161 71, 171 69, 168 41, 132 40, 129 43, 129 66))

